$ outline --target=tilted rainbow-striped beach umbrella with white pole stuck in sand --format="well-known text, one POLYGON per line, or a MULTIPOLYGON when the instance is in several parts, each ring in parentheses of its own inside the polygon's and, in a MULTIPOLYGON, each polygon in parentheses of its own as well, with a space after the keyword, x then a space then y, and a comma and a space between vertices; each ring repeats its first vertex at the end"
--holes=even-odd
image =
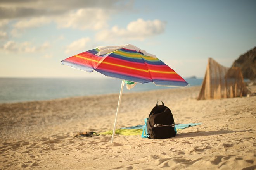
POLYGON ((114 140, 116 121, 123 93, 124 81, 148 83, 156 86, 185 87, 188 83, 173 69, 155 55, 147 53, 131 44, 121 46, 101 46, 61 61, 75 69, 93 72, 122 79, 118 107, 111 143, 114 140))

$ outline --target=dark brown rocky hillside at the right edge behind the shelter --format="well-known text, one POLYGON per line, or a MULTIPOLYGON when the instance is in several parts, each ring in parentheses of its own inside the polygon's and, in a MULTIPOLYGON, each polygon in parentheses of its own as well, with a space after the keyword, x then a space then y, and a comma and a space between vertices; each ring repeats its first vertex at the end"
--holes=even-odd
POLYGON ((239 67, 246 79, 256 79, 256 47, 241 55, 232 67, 239 67))

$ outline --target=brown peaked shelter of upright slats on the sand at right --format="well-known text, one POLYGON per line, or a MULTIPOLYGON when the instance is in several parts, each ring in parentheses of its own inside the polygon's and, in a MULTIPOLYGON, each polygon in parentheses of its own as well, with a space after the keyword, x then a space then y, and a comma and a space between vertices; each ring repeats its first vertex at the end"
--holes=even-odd
POLYGON ((224 67, 212 58, 208 59, 197 100, 241 97, 248 92, 239 67, 224 67))

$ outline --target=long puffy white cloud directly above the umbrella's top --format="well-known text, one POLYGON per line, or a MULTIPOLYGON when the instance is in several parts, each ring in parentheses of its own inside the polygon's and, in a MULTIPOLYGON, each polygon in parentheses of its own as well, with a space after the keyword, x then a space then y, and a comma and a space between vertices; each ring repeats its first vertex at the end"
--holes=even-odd
POLYGON ((143 41, 145 38, 164 33, 166 23, 159 19, 144 21, 137 19, 137 21, 130 22, 126 29, 119 28, 118 26, 112 27, 111 30, 103 30, 96 34, 98 41, 120 41, 126 40, 139 40, 143 41))

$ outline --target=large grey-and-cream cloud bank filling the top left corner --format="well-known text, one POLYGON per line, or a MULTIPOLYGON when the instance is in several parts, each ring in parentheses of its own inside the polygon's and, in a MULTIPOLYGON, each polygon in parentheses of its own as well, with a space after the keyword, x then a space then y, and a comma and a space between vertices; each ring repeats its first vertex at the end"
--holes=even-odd
POLYGON ((106 29, 110 15, 132 8, 132 0, 3 0, 0 3, 0 30, 7 31, 1 27, 7 26, 9 21, 14 24, 7 32, 14 37, 50 22, 55 22, 59 28, 106 29))

